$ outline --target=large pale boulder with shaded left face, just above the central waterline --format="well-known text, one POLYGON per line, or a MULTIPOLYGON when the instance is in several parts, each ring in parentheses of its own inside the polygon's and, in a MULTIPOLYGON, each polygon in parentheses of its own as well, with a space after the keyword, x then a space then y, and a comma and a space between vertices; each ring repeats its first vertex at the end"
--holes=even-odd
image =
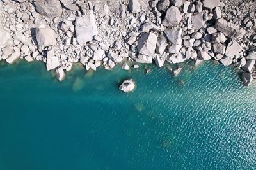
POLYGON ((157 36, 153 33, 145 33, 138 40, 138 51, 143 55, 152 56, 155 53, 157 36))

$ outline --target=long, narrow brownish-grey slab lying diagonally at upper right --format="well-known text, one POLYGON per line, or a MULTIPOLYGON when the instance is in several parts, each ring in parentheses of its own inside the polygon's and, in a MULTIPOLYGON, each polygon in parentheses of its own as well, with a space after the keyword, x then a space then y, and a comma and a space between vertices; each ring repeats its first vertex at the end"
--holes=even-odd
POLYGON ((223 18, 217 20, 215 27, 218 31, 225 34, 232 39, 237 39, 242 37, 246 32, 243 28, 240 28, 238 25, 232 24, 231 22, 227 22, 223 18))

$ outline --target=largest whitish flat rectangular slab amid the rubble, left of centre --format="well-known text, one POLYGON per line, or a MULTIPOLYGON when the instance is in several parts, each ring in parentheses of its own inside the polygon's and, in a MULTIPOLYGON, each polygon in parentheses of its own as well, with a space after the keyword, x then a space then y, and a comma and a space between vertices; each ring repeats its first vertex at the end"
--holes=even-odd
POLYGON ((79 45, 93 40, 98 34, 95 16, 92 11, 84 17, 76 18, 76 39, 79 45))

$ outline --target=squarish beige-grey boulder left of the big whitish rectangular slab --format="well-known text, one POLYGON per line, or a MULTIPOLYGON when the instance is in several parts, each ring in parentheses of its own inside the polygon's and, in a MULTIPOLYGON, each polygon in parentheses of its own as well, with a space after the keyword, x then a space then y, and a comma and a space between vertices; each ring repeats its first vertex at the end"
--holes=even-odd
POLYGON ((50 28, 36 28, 36 41, 39 46, 56 45, 56 33, 50 28))

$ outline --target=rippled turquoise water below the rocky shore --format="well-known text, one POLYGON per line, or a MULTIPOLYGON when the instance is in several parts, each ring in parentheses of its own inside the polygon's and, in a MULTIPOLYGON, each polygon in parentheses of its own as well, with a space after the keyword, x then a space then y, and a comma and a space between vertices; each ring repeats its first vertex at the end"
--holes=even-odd
POLYGON ((176 78, 77 66, 0 66, 0 169, 255 169, 256 83, 205 62, 176 78), (118 85, 134 78, 136 90, 118 85))

